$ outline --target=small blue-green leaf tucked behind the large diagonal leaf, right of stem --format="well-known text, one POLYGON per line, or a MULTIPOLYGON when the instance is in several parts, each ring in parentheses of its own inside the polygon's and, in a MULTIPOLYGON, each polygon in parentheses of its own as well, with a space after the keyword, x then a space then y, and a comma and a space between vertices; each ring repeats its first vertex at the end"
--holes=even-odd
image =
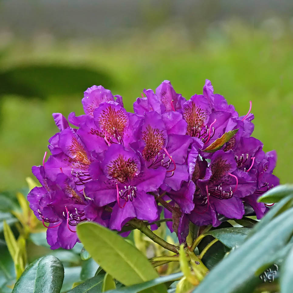
POLYGON ((210 230, 206 234, 211 235, 221 241, 225 246, 233 248, 244 242, 251 229, 244 227, 229 227, 210 230))

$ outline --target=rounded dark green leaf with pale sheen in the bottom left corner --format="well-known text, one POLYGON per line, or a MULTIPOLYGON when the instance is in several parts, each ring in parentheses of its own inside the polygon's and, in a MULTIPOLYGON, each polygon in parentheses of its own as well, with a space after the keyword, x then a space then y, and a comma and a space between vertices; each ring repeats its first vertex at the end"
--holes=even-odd
POLYGON ((51 255, 30 264, 15 283, 12 293, 59 293, 64 278, 61 261, 51 255))

